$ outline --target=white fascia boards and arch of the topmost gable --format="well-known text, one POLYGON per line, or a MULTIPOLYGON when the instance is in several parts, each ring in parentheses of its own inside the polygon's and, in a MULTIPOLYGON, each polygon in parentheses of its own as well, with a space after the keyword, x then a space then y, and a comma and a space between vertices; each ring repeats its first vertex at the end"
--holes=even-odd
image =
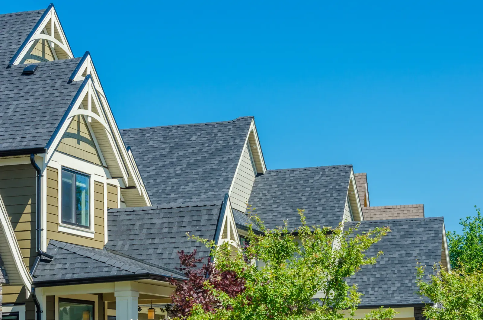
MULTIPOLYGON (((36 39, 45 39, 50 41, 51 43, 54 43, 58 45, 62 50, 64 50, 69 58, 74 58, 74 55, 72 54, 71 46, 69 45, 69 42, 67 41, 67 38, 65 36, 64 30, 62 29, 62 26, 60 25, 60 21, 57 16, 56 9, 54 6, 49 6, 48 11, 44 13, 37 23, 37 25, 34 27, 35 29, 32 29, 30 34, 28 35, 28 38, 24 41, 22 46, 18 49, 17 53, 15 53, 14 60, 9 63, 9 65, 16 65, 19 64, 22 58, 25 57, 25 55, 28 52, 28 49, 30 48, 30 45, 32 42, 34 42, 36 39), (60 39, 62 42, 59 42, 57 39, 55 39, 52 34, 42 34, 41 32, 45 28, 48 22, 51 22, 51 27, 53 30, 53 26, 55 25, 57 27, 57 31, 59 32, 60 39)), ((57 55, 56 55, 57 57, 57 55)))

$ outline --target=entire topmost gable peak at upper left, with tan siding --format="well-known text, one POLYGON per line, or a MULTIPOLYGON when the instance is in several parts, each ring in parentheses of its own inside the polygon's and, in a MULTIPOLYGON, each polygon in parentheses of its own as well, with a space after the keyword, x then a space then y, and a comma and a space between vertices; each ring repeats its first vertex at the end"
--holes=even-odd
POLYGON ((18 48, 8 67, 22 63, 74 58, 56 9, 51 3, 23 44, 18 48))

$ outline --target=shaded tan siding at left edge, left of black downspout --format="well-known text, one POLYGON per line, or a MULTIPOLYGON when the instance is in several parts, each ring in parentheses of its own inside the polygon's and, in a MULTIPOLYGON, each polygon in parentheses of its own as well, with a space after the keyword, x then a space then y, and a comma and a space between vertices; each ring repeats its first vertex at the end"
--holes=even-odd
POLYGON ((36 172, 30 164, 0 166, 0 195, 28 267, 36 256, 35 176, 36 172))

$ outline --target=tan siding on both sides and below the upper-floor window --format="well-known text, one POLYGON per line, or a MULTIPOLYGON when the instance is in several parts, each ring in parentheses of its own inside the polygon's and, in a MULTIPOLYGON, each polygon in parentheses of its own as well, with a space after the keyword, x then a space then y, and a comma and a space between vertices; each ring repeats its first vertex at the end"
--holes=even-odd
POLYGON ((94 182, 94 239, 58 231, 58 170, 47 167, 47 240, 104 247, 104 186, 94 182))

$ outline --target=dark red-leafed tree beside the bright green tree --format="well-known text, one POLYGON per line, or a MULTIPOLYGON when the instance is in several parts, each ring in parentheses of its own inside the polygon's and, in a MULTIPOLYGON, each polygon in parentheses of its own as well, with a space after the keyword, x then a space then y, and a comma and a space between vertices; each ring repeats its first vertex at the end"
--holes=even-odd
POLYGON ((206 263, 202 263, 202 259, 197 258, 196 249, 191 253, 178 251, 178 255, 181 267, 177 269, 184 273, 188 280, 171 281, 171 284, 176 286, 176 290, 171 295, 173 306, 170 312, 176 318, 187 318, 195 304, 201 305, 208 312, 213 312, 221 306, 213 292, 207 289, 206 281, 214 289, 225 292, 230 297, 235 297, 245 290, 245 281, 237 277, 235 272, 219 271, 210 258, 206 263))

